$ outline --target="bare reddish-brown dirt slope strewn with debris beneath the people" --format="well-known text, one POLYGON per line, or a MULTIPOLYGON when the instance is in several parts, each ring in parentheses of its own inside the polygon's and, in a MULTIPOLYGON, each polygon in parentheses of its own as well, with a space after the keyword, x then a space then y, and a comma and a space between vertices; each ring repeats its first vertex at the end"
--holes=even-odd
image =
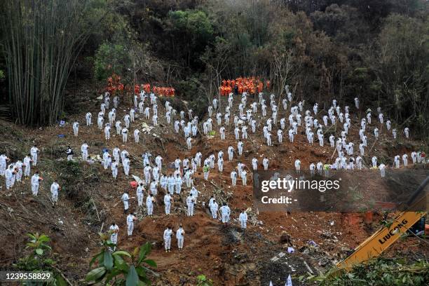
MULTIPOLYGON (((154 217, 146 217, 144 210, 137 210, 135 191, 129 187, 132 178, 126 178, 122 168, 116 181, 112 179, 111 171, 103 170, 100 163, 90 165, 81 162, 79 170, 68 170, 64 164, 67 144, 74 149, 75 158, 80 156, 84 140, 90 145, 90 154, 101 155, 104 147, 110 150, 116 145, 120 149, 126 148, 132 156, 130 173, 142 177, 140 156, 144 151, 150 151, 152 158, 161 154, 164 158, 163 166, 174 161, 177 156, 183 159, 194 156, 197 151, 203 153, 203 159, 214 152, 217 155, 217 151, 221 149, 226 154, 230 144, 236 147, 233 128, 231 125, 227 128, 224 141, 220 140, 218 133, 214 137, 200 136, 193 139, 193 147, 188 151, 183 135, 176 135, 172 125, 165 122, 161 100, 158 103, 161 124, 149 135, 141 133, 139 144, 133 141, 132 131, 142 122, 151 125, 151 121, 142 116, 131 124, 131 136, 126 146, 121 142, 121 137, 114 135, 114 128, 111 141, 105 142, 104 134, 97 129, 96 124, 90 127, 84 124, 87 111, 92 112, 93 123, 96 120, 100 101, 95 97, 96 95, 90 95, 89 99, 76 101, 76 115, 67 118, 67 125, 63 128, 52 126, 28 129, 0 121, 1 151, 6 151, 13 161, 18 158, 22 160, 32 144, 38 144, 41 149, 40 163, 32 172, 37 169, 44 178, 39 196, 34 197, 31 195, 28 179, 6 191, 4 177, 0 177, 0 243, 4 245, 0 248, 0 268, 10 268, 25 253, 25 233, 46 233, 52 239, 57 267, 76 285, 83 284, 83 278, 89 270, 90 257, 99 247, 97 233, 100 230, 107 231, 109 224, 114 221, 121 229, 119 248, 132 250, 147 241, 153 243, 154 250, 150 257, 158 263, 157 271, 161 274, 160 278, 154 279, 154 285, 196 285, 198 274, 212 279, 214 285, 268 285, 270 280, 274 285, 284 285, 287 275, 292 274, 294 285, 300 285, 299 275, 326 271, 336 261, 346 257, 349 250, 362 243, 379 226, 381 217, 377 214, 372 224, 365 224, 360 213, 264 212, 257 214, 256 224, 249 222, 245 232, 240 230, 236 219, 240 209, 252 207, 253 195, 251 184, 241 186, 238 180, 238 186, 230 186, 230 172, 239 160, 250 168, 254 156, 259 158, 259 163, 263 156, 268 156, 270 169, 287 169, 293 168, 295 158, 300 158, 303 168, 308 168, 311 162, 329 160, 334 151, 327 146, 329 142, 325 147, 319 147, 317 143, 309 145, 303 135, 297 136, 294 144, 286 138, 281 146, 275 142, 273 147, 267 147, 261 128, 255 135, 250 132, 250 139, 245 140, 245 152, 241 158, 235 156, 233 162, 225 161, 223 174, 219 174, 217 169, 212 170, 210 182, 203 180, 202 171, 199 170, 200 173, 196 174, 194 183, 201 193, 196 216, 185 216, 184 200, 188 190, 184 186, 181 196, 175 198, 170 217, 164 214, 163 191, 158 191, 154 217), (71 128, 75 119, 81 123, 79 137, 73 136, 71 128), (64 138, 57 136, 60 134, 64 138), (59 203, 55 207, 50 203, 49 191, 53 179, 58 179, 64 189, 60 192, 59 203), (130 210, 137 211, 139 218, 131 237, 126 236, 125 214, 120 201, 125 189, 130 190, 130 210), (207 209, 203 207, 203 202, 207 205, 212 193, 219 193, 219 190, 228 200, 232 211, 233 222, 227 227, 211 219, 207 209), (182 252, 177 251, 175 239, 172 240, 172 252, 163 251, 162 236, 168 224, 174 229, 183 224, 186 237, 182 252), (318 247, 308 247, 310 240, 317 243, 318 247), (294 247, 293 254, 287 253, 289 245, 294 247), (279 255, 280 252, 285 255, 279 255)), ((131 103, 130 100, 123 101, 118 109, 118 115, 121 116, 125 110, 129 110, 131 103)), ((222 101, 222 108, 225 102, 222 101)), ((172 100, 173 107, 179 104, 182 104, 179 100, 172 100)), ((238 99, 234 102, 234 111, 237 105, 238 99)), ((282 116, 280 113, 279 118, 282 116)), ((219 130, 215 122, 214 130, 219 130)), ((349 136, 358 138, 356 126, 349 136)), ((369 146, 373 143, 370 137, 369 146)), ((396 152, 401 152, 398 154, 402 155, 404 151, 418 149, 419 144, 412 141, 393 142, 382 132, 381 139, 374 144, 370 155, 393 158, 396 152)), ((366 165, 369 165, 369 161, 370 156, 366 156, 366 165)), ((170 171, 163 170, 168 173, 170 171)), ((250 218, 253 215, 254 210, 250 218)), ((407 238, 391 247, 386 255, 409 256, 416 253, 427 255, 428 244, 416 238, 407 238)))

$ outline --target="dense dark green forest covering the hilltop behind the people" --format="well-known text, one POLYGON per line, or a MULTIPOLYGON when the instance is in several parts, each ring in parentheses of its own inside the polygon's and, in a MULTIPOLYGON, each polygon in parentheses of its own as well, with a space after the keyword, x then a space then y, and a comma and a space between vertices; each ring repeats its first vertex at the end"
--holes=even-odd
MULTIPOLYGON (((429 136, 425 0, 4 0, 0 82, 13 121, 55 123, 71 79, 174 86, 203 111, 222 79, 382 107, 429 136)), ((85 81, 86 83, 88 81, 85 81)), ((130 88, 130 90, 132 90, 130 88)))

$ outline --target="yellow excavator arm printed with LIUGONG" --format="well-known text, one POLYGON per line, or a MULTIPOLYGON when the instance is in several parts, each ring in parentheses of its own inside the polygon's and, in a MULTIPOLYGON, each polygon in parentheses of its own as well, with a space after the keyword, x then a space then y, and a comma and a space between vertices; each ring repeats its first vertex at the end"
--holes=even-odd
MULTIPOLYGON (((407 210, 407 208, 411 206, 411 210, 428 210, 429 194, 427 191, 424 191, 425 186, 428 184, 429 176, 418 186, 402 209, 407 210), (414 202, 414 200, 416 200, 416 202, 414 202)), ((395 243, 403 233, 411 229, 411 226, 416 224, 422 217, 425 217, 426 214, 427 212, 424 211, 400 212, 396 214, 392 224, 383 226, 376 231, 376 233, 367 238, 367 240, 355 248, 350 256, 339 262, 339 264, 336 264, 336 267, 329 271, 327 277, 338 277, 345 271, 350 271, 356 264, 365 263, 365 261, 369 259, 378 257, 381 252, 388 249, 388 247, 395 243)))

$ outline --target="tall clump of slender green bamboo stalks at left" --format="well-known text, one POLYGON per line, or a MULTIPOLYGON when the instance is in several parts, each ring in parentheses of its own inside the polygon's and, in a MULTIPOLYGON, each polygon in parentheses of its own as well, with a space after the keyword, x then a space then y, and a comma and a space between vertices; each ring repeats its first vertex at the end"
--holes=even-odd
POLYGON ((64 88, 88 38, 86 0, 2 0, 8 88, 17 123, 57 121, 64 88))

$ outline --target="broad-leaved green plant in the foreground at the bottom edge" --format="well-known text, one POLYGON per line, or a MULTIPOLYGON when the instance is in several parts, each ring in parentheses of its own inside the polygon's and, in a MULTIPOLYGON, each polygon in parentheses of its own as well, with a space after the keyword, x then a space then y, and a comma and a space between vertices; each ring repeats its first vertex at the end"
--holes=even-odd
POLYGON ((131 254, 123 250, 112 252, 111 249, 116 245, 109 240, 110 234, 100 233, 102 250, 91 259, 90 266, 97 263, 97 267, 88 272, 86 281, 102 282, 104 285, 151 285, 147 273, 158 275, 147 267, 156 268, 156 262, 147 259, 151 253, 151 243, 135 247, 131 254))

